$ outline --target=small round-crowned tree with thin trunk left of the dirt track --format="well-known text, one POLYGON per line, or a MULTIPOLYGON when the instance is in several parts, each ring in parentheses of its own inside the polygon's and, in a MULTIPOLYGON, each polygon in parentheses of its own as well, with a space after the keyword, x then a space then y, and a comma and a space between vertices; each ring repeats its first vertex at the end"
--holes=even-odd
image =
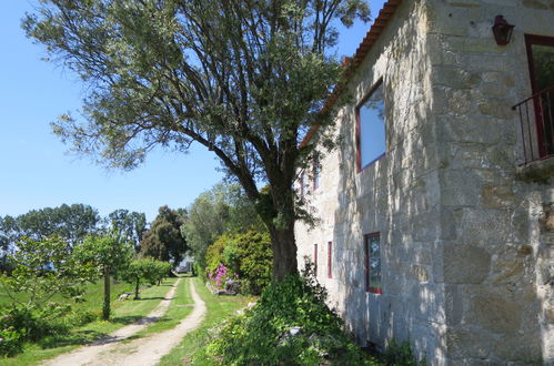
POLYGON ((132 257, 132 247, 118 235, 87 236, 74 250, 74 255, 81 265, 94 268, 94 278, 103 277, 104 297, 102 318, 110 318, 111 275, 124 268, 132 257))

